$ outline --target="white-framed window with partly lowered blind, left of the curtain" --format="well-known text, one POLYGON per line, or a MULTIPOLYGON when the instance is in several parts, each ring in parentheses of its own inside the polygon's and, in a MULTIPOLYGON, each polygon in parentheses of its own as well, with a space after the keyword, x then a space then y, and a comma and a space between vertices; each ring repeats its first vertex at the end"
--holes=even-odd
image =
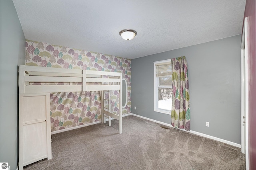
POLYGON ((171 60, 154 62, 154 111, 171 114, 172 63, 171 60))

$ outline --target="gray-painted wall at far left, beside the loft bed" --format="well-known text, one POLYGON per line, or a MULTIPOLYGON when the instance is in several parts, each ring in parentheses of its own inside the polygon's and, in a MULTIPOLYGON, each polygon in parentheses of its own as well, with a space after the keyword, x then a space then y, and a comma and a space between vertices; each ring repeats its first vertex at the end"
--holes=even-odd
POLYGON ((25 37, 12 0, 0 0, 0 162, 18 164, 17 66, 25 64, 25 37))

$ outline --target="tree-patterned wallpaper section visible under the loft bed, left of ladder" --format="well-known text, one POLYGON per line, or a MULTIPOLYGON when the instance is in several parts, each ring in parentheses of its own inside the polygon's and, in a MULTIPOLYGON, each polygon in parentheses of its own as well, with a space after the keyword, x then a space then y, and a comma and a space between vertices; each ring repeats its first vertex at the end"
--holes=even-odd
POLYGON ((51 131, 100 121, 100 102, 99 91, 51 93, 51 131))

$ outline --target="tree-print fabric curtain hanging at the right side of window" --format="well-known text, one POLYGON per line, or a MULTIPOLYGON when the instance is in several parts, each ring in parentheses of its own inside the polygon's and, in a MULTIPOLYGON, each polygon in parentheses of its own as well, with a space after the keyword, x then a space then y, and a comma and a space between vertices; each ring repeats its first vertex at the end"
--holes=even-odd
POLYGON ((172 126, 190 130, 188 67, 186 57, 172 59, 172 126))

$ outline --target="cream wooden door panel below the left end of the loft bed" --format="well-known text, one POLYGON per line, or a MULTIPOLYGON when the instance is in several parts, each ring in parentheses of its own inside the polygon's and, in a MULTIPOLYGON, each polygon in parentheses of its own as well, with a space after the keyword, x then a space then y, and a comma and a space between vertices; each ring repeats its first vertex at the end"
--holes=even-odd
POLYGON ((20 94, 19 169, 52 158, 50 94, 20 94))

